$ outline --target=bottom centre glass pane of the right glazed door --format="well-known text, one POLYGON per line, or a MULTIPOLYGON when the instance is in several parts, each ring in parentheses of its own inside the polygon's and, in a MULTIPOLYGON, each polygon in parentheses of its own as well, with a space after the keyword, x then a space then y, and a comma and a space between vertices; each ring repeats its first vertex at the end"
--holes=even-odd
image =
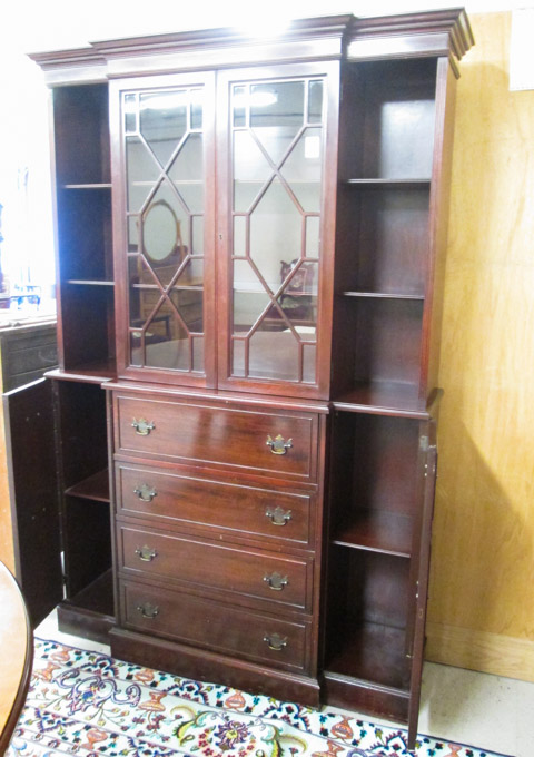
POLYGON ((298 380, 298 342, 290 331, 258 331, 250 337, 251 378, 298 380))

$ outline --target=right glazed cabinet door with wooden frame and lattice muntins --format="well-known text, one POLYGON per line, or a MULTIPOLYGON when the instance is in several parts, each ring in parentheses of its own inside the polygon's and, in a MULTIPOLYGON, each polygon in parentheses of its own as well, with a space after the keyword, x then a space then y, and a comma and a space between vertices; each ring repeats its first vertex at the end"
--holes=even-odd
POLYGON ((326 397, 337 63, 218 75, 219 386, 326 397))

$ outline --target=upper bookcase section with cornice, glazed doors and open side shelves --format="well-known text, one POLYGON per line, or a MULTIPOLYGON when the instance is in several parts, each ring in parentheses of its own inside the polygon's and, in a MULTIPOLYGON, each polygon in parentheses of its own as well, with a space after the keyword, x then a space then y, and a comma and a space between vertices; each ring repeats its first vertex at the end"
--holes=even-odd
POLYGON ((454 9, 33 56, 63 370, 424 413, 472 41, 454 9))

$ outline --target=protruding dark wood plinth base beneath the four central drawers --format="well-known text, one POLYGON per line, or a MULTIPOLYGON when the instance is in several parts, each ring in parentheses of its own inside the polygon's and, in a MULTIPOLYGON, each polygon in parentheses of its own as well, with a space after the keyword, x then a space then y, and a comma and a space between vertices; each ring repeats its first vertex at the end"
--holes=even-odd
POLYGON ((194 680, 221 682, 224 686, 276 697, 283 701, 298 701, 308 707, 319 706, 319 684, 315 678, 273 670, 121 628, 113 628, 109 640, 111 655, 122 660, 194 680))

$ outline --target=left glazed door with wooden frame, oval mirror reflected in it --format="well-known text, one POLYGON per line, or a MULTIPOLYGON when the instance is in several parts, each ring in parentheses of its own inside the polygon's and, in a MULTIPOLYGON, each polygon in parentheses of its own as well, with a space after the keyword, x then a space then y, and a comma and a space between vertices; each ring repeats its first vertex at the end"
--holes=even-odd
POLYGON ((110 85, 121 376, 214 385, 214 82, 110 85))

